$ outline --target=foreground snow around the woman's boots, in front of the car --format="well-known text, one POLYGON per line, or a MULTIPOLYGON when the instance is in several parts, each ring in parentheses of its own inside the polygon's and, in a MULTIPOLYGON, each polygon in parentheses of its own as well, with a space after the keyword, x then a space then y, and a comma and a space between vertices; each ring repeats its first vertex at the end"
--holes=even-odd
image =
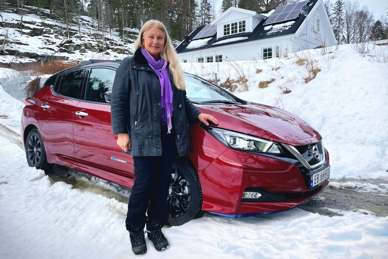
MULTIPOLYGON (((0 137, 0 257, 130 258, 126 204, 52 183, 27 165, 24 151, 0 137)), ((147 258, 385 258, 388 217, 300 209, 242 219, 206 214, 165 228, 170 247, 147 258)))

